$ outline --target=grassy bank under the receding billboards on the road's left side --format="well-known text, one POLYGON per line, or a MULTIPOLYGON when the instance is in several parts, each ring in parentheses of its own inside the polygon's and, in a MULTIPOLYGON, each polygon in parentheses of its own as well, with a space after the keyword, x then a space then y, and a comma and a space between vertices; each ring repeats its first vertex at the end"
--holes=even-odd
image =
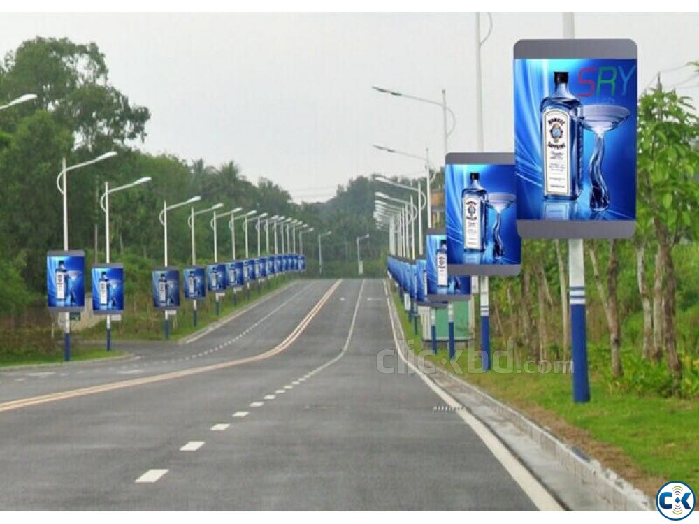
MULTIPOLYGON (((170 340, 179 340, 206 328, 210 323, 218 321, 224 316, 250 305, 268 293, 280 289, 280 287, 291 282, 291 278, 291 276, 284 275, 270 279, 268 282, 263 282, 259 288, 259 296, 257 284, 252 283, 250 285, 250 298, 246 300, 245 289, 240 290, 236 293, 236 304, 233 304, 231 293, 226 293, 225 298, 222 298, 220 302, 220 313, 218 315, 215 310, 215 298, 212 294, 208 294, 204 300, 199 300, 197 304, 196 326, 194 326, 192 303, 183 301, 177 315, 171 317, 170 340)), ((163 312, 154 310, 150 306, 150 296, 141 297, 140 303, 142 307, 129 309, 122 315, 121 322, 112 323, 112 337, 114 340, 164 340, 163 312), (145 305, 143 305, 144 303, 145 305)), ((82 330, 79 336, 85 340, 96 340, 105 336, 104 330, 104 323, 100 322, 92 328, 82 330)))

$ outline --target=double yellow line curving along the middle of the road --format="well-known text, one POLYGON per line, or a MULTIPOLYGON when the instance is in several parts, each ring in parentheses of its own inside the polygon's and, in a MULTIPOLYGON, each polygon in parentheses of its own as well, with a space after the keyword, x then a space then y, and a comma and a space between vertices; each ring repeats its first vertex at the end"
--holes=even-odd
POLYGON ((57 400, 66 400, 69 398, 82 397, 85 395, 94 395, 95 393, 104 393, 106 391, 114 391, 115 389, 130 388, 132 386, 143 386, 144 384, 154 384, 155 382, 161 382, 171 379, 181 379, 182 377, 189 377, 193 374, 206 373, 209 371, 223 370, 226 367, 234 367, 236 365, 248 364, 251 362, 257 362, 265 360, 266 358, 273 357, 280 354, 284 349, 287 349, 291 344, 296 341, 296 339, 301 336, 303 330, 308 326, 308 324, 315 318, 318 312, 322 309, 325 303, 330 299, 333 292, 338 289, 342 280, 338 280, 333 284, 328 291, 320 298, 318 303, 308 312, 308 314, 303 317, 303 320, 298 323, 298 326, 294 328, 293 331, 284 339, 282 342, 277 344, 275 347, 264 351, 254 356, 249 356, 245 358, 238 358, 233 361, 221 362, 218 364, 205 365, 201 367, 190 367, 187 370, 173 371, 169 373, 162 373, 152 375, 150 377, 140 377, 138 379, 122 380, 118 382, 110 382, 108 384, 101 384, 99 386, 89 386, 87 388, 72 389, 69 391, 62 391, 60 393, 48 393, 48 395, 38 395, 36 397, 20 398, 19 400, 11 400, 10 402, 3 402, 0 404, 0 412, 8 412, 13 409, 20 409, 22 407, 36 406, 39 404, 45 404, 47 402, 56 402, 57 400))

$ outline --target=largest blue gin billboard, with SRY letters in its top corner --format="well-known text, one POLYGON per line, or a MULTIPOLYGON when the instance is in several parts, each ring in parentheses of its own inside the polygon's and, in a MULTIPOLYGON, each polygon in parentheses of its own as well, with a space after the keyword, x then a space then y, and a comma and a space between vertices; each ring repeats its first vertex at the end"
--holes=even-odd
POLYGON ((629 238, 636 219, 636 45, 514 45, 517 228, 524 238, 629 238))

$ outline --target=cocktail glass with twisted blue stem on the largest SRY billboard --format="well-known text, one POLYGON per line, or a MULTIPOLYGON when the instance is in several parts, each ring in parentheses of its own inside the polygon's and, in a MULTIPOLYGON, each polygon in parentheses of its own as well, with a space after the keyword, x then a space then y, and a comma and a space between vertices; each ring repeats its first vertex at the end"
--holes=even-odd
POLYGON ((604 211, 610 207, 610 192, 602 174, 605 156, 605 133, 619 127, 631 113, 621 105, 605 103, 579 105, 570 110, 572 116, 584 129, 595 133, 595 149, 590 157, 590 208, 604 211))

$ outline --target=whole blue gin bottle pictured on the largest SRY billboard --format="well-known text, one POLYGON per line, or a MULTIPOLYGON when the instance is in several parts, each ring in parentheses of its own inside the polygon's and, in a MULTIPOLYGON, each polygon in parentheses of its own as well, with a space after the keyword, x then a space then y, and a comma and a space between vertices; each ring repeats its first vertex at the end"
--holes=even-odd
POLYGON ((544 197, 573 200, 582 190, 582 126, 570 111, 582 104, 568 90, 567 71, 554 73, 554 85, 539 106, 544 197))

